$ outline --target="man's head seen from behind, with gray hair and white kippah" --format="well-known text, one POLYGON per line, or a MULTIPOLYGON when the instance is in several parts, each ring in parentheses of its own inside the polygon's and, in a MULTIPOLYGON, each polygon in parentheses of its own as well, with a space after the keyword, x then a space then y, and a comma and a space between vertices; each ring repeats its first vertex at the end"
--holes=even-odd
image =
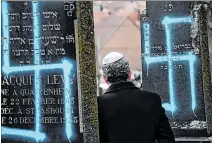
POLYGON ((102 61, 102 72, 106 83, 125 82, 131 77, 129 62, 118 52, 107 54, 102 61))

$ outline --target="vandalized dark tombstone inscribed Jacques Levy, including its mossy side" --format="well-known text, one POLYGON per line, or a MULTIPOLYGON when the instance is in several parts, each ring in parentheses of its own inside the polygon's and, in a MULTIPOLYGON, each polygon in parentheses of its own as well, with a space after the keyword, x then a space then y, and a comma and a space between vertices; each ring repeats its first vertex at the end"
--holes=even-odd
POLYGON ((2 143, 97 143, 92 2, 2 2, 2 143))

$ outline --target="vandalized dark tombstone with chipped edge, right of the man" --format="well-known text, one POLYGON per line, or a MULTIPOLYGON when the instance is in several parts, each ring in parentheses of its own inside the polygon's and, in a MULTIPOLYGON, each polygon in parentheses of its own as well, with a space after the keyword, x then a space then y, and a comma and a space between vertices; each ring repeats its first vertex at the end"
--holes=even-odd
POLYGON ((207 128, 211 132, 202 7, 194 2, 149 1, 141 16, 143 89, 161 95, 176 137, 208 136, 207 128))

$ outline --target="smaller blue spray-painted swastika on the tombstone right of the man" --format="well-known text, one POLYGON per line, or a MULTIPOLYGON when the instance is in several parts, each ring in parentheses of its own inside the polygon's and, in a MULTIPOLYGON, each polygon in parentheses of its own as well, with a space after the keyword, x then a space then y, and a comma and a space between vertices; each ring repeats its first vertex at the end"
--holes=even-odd
POLYGON ((172 55, 172 25, 177 23, 188 23, 191 24, 192 18, 190 16, 182 17, 182 18, 170 18, 164 17, 162 24, 165 27, 165 35, 166 35, 166 47, 167 47, 167 55, 166 56, 156 56, 151 57, 151 49, 150 49, 150 24, 143 23, 143 35, 144 35, 144 60, 147 64, 147 75, 148 68, 150 64, 160 63, 160 62, 168 62, 168 83, 169 83, 169 103, 163 103, 163 107, 167 111, 171 111, 172 114, 176 111, 176 93, 175 93, 175 85, 174 85, 174 77, 173 77, 173 62, 174 61, 189 61, 189 75, 190 75, 190 88, 191 88, 191 101, 192 101, 192 110, 194 112, 196 108, 196 91, 195 91, 195 73, 194 73, 194 62, 196 56, 191 52, 186 55, 172 55))

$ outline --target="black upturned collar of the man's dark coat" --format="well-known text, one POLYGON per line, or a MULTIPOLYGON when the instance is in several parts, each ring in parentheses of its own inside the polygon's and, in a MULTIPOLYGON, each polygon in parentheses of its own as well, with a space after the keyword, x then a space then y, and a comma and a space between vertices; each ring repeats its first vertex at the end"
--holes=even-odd
POLYGON ((117 90, 129 89, 129 88, 138 89, 131 81, 126 81, 126 82, 119 82, 119 83, 114 83, 110 85, 110 87, 107 89, 105 93, 109 93, 109 92, 113 92, 117 90))

